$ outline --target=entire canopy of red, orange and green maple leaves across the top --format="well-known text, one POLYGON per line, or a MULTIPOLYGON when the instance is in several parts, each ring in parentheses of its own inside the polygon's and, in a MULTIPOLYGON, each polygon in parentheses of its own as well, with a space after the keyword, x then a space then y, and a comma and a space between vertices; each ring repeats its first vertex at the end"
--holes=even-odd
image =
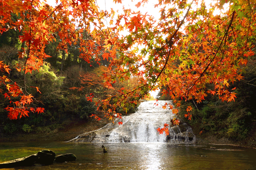
MULTIPOLYGON (((138 1, 136 6, 147 2, 138 1)), ((254 55, 256 4, 253 0, 220 0, 207 6, 199 0, 158 0, 155 7, 160 9, 160 18, 125 7, 116 16, 114 10, 100 10, 94 0, 57 0, 56 6, 40 0, 0 3, 0 33, 18 29, 22 32, 20 41, 26 44, 19 53, 21 62, 16 65, 18 71, 24 71, 24 76, 39 70, 43 60, 50 57, 45 55, 44 48, 58 34, 60 50, 67 53, 68 45, 79 42, 79 57, 86 62, 94 59, 99 63, 100 56, 110 61, 104 75, 107 88, 115 89, 116 82, 139 78, 132 89, 118 89, 97 102, 98 108, 106 110, 106 117, 121 118, 117 107, 134 106, 149 91, 161 86, 166 87, 163 95, 173 100, 174 107, 172 103, 166 105, 174 114, 178 114, 181 100, 200 103, 206 95, 218 95, 222 101, 235 100, 234 89, 228 87, 243 78, 241 71, 247 57, 254 55), (219 14, 214 13, 217 9, 219 14), (19 19, 12 20, 11 13, 19 19), (104 24, 107 18, 108 25, 104 24), (124 30, 128 35, 121 34, 124 30), (213 88, 207 88, 207 84, 213 88)), ((42 112, 43 108, 28 107, 33 96, 27 93, 26 82, 10 83, 4 75, 10 69, 3 61, 0 69, 3 73, 0 84, 5 85, 4 96, 10 100, 6 108, 9 118, 28 116, 29 111, 42 112)), ((185 114, 188 119, 191 109, 188 106, 185 114)), ((170 123, 177 125, 179 120, 170 123)), ((158 131, 168 134, 168 127, 166 123, 158 131)))

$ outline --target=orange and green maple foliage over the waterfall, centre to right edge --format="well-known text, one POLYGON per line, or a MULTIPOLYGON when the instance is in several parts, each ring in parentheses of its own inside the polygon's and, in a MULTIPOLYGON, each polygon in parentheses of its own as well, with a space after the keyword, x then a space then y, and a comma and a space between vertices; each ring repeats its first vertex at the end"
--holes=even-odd
MULTIPOLYGON (((175 107, 172 103, 166 105, 174 114, 178 114, 182 100, 200 103, 207 95, 218 95, 222 101, 235 100, 235 89, 228 87, 243 78, 247 57, 254 55, 255 2, 221 0, 206 6, 204 1, 159 0, 155 7, 161 8, 158 21, 131 10, 119 15, 116 32, 128 29, 129 34, 120 38, 120 57, 110 64, 107 84, 111 87, 117 79, 131 74, 145 77, 134 90, 119 92, 109 113, 161 86, 166 87, 163 95, 173 100, 175 107), (216 9, 220 10, 218 15, 214 14, 216 9), (207 88, 207 84, 213 88, 207 88)), ((109 106, 111 98, 103 105, 109 106)), ((188 106, 184 116, 191 119, 191 111, 188 106)), ((179 120, 171 123, 178 125, 179 120)), ((168 134, 168 127, 165 124, 159 133, 168 134)))

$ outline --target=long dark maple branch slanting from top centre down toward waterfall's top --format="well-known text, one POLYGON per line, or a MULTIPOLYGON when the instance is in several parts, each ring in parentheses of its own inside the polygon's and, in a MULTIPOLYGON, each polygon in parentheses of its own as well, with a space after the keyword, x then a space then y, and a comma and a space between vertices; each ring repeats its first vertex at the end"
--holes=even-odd
MULTIPOLYGON (((191 2, 191 4, 192 4, 193 2, 194 2, 194 0, 191 2)), ((174 36, 178 33, 180 27, 183 25, 184 20, 186 19, 187 15, 188 15, 188 12, 189 12, 189 10, 190 10, 190 8, 191 8, 191 4, 189 4, 188 10, 187 10, 185 16, 184 16, 183 19, 181 20, 180 25, 177 27, 177 29, 175 30, 175 32, 172 34, 172 37, 171 37, 171 39, 170 39, 169 42, 168 42, 168 44, 169 44, 169 47, 168 47, 168 48, 169 48, 169 49, 168 49, 168 54, 167 54, 167 56, 166 56, 166 61, 165 61, 165 63, 164 63, 164 67, 163 67, 163 69, 160 71, 160 73, 157 75, 156 80, 154 81, 152 87, 150 88, 150 91, 151 91, 151 90, 153 89, 153 87, 155 86, 156 81, 157 81, 157 79, 159 78, 159 76, 160 76, 160 75, 162 74, 162 72, 165 70, 165 67, 166 67, 166 65, 167 65, 167 63, 168 63, 168 60, 169 60, 169 57, 170 57, 170 54, 171 54, 171 48, 172 48, 172 45, 173 45, 172 39, 173 39, 174 36)), ((162 47, 162 48, 163 48, 163 47, 162 47)), ((162 49, 162 48, 161 48, 161 49, 162 49)), ((160 50, 160 49, 159 49, 159 50, 160 50)))

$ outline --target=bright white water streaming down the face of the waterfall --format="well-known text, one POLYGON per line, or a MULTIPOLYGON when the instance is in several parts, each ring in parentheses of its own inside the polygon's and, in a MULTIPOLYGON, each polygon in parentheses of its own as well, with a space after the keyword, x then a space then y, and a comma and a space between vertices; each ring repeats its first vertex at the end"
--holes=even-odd
POLYGON ((162 106, 170 101, 144 101, 140 103, 138 111, 134 114, 123 116, 123 125, 113 129, 108 142, 120 142, 120 135, 130 136, 130 142, 166 142, 165 134, 158 134, 157 128, 170 122, 172 111, 162 106), (154 105, 158 104, 158 106, 154 105), (130 135, 129 135, 130 134, 130 135))

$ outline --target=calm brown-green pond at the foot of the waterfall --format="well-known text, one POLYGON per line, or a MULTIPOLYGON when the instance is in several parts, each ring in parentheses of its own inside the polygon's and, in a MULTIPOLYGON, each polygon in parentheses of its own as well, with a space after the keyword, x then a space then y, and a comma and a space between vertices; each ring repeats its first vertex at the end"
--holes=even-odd
POLYGON ((256 149, 227 145, 171 143, 0 143, 0 162, 22 158, 49 149, 56 155, 74 153, 76 161, 49 166, 15 167, 26 170, 254 170, 256 149), (211 149, 216 147, 217 149, 211 149))

